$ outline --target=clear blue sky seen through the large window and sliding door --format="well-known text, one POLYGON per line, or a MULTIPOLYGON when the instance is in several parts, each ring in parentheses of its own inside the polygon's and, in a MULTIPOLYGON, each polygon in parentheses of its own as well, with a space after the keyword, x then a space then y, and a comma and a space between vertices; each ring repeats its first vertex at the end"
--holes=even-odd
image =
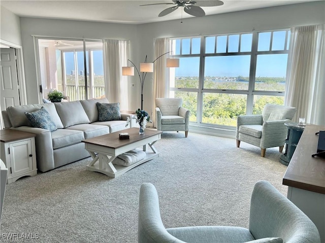
MULTIPOLYGON (((273 36, 271 32, 262 32, 258 35, 257 51, 284 50, 285 48, 286 31, 275 31, 273 36), (273 40, 271 43, 271 39, 273 40), (271 44, 271 45, 270 45, 271 44)), ((228 46, 227 37, 209 36, 206 37, 206 50, 209 53, 225 53, 228 47, 228 52, 250 52, 252 46, 252 33, 229 35, 228 46), (216 45, 217 42, 217 45, 216 45), (239 43, 240 42, 240 43, 239 43), (240 45, 239 45, 240 44, 240 45), (239 50, 240 48, 240 50, 239 50)), ((289 37, 287 37, 287 40, 289 37)), ((183 38, 182 39, 182 54, 199 54, 200 53, 200 37, 183 38), (191 45, 190 45, 190 42, 191 45), (190 50, 191 48, 191 50, 190 50)), ((288 44, 288 42, 287 42, 288 44)), ((176 52, 180 54, 181 40, 175 41, 176 52)), ((66 73, 71 74, 74 70, 73 52, 66 53, 66 73)), ((88 55, 88 52, 87 52, 88 55)), ((77 52, 78 73, 83 70, 83 53, 77 52)), ((103 52, 93 51, 94 73, 96 75, 104 75, 103 70, 103 52)), ((285 77, 287 66, 287 54, 264 54, 257 55, 256 74, 255 76, 266 77, 285 77)), ((176 76, 199 76, 200 58, 185 57, 180 58, 180 67, 176 68, 176 76)), ((249 76, 250 55, 235 55, 235 56, 208 56, 205 58, 205 76, 249 76)), ((88 59, 87 59, 87 72, 88 59)))

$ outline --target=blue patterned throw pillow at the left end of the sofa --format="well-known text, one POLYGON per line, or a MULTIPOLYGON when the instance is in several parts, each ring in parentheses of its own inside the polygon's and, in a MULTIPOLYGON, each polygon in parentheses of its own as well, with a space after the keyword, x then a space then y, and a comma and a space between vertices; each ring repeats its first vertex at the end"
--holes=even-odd
POLYGON ((57 127, 52 120, 49 112, 44 107, 34 112, 25 112, 25 115, 31 123, 31 126, 34 128, 42 128, 50 130, 51 132, 57 130, 57 127))

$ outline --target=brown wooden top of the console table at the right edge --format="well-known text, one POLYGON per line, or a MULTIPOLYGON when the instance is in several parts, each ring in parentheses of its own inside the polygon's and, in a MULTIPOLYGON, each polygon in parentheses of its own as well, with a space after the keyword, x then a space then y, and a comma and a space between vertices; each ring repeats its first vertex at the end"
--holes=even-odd
POLYGON ((282 184, 325 194, 325 158, 317 152, 318 135, 325 127, 307 125, 284 174, 282 184))

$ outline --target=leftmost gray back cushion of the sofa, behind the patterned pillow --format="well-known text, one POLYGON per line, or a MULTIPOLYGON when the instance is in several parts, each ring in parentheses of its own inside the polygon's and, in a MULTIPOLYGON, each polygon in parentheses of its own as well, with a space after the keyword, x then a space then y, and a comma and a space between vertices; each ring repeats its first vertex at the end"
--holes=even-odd
POLYGON ((25 115, 26 112, 34 112, 42 108, 42 106, 49 112, 52 120, 55 123, 57 128, 63 128, 62 121, 55 109, 54 103, 48 104, 32 104, 32 105, 17 105, 17 106, 9 106, 7 108, 7 113, 9 120, 14 128, 20 126, 28 126, 31 127, 29 120, 25 115))

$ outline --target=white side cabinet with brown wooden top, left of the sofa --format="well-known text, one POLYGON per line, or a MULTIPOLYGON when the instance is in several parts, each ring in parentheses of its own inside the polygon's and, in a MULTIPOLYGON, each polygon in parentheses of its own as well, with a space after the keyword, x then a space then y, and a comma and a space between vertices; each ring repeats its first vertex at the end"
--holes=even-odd
POLYGON ((8 184, 23 176, 35 176, 35 134, 14 129, 0 130, 1 159, 8 169, 8 184))

